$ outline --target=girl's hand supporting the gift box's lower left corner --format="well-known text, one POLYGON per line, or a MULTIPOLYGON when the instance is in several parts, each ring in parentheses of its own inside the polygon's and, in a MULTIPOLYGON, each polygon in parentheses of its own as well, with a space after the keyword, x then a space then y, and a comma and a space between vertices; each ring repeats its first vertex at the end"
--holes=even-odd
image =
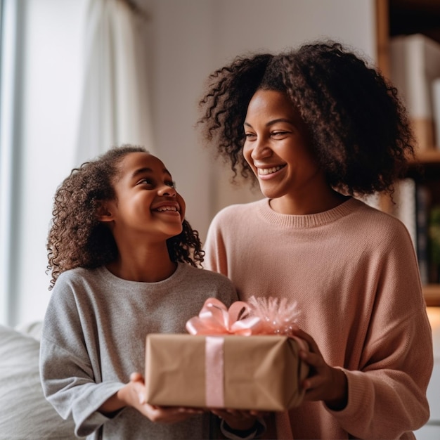
POLYGON ((153 406, 145 401, 145 382, 140 373, 131 373, 130 382, 114 394, 103 406, 100 411, 104 414, 111 414, 115 411, 131 406, 136 408, 139 413, 145 415, 152 422, 175 423, 186 420, 193 415, 203 413, 198 408, 181 408, 177 406, 153 406))

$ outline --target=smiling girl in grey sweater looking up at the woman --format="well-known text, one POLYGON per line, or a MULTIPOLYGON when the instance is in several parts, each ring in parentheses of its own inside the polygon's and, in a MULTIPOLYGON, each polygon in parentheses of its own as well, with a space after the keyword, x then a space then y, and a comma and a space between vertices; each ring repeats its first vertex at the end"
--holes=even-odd
POLYGON ((74 169, 56 192, 41 380, 58 413, 73 416, 78 436, 215 435, 209 413, 143 403, 135 373, 144 368, 149 332, 185 332, 208 297, 236 299, 228 278, 198 268, 201 243, 184 217, 164 164, 130 145, 74 169))

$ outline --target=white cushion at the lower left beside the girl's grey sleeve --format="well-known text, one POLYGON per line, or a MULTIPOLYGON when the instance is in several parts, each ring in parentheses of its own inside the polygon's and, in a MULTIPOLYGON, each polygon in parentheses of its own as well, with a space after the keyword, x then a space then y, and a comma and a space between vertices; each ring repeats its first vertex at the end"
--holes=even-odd
POLYGON ((44 399, 39 378, 39 342, 0 325, 0 440, 76 439, 44 399))

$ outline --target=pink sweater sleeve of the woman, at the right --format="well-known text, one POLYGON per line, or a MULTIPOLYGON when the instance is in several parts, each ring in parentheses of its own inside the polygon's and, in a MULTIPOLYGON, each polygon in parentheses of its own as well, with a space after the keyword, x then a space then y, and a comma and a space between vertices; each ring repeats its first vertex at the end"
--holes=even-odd
POLYGON ((347 407, 327 408, 361 439, 408 438, 429 418, 432 334, 413 245, 407 231, 400 232, 384 255, 360 368, 344 370, 347 407))

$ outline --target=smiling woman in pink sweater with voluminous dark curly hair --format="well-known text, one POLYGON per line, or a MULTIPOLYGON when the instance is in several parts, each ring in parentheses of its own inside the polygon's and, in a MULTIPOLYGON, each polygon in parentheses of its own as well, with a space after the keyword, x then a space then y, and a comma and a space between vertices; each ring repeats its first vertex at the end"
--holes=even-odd
POLYGON ((268 438, 413 439, 432 372, 415 252, 403 224, 354 198, 392 193, 413 157, 396 89, 318 41, 236 58, 200 106, 205 139, 266 197, 215 216, 207 268, 242 300, 296 300, 311 348, 305 401, 268 418, 268 438))

